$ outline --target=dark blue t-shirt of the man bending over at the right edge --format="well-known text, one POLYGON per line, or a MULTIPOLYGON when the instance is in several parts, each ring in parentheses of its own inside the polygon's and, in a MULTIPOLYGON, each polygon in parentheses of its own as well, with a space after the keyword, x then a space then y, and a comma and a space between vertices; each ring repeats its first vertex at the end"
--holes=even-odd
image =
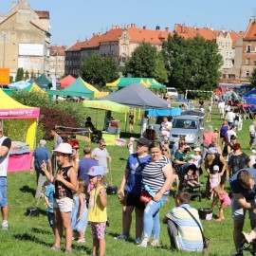
MULTIPOLYGON (((250 174, 253 175, 253 179, 254 182, 256 184, 256 169, 252 169, 252 168, 245 168, 244 170, 246 170, 247 172, 249 172, 250 174)), ((234 174, 230 179, 229 179, 229 183, 230 183, 230 189, 231 192, 233 193, 242 193, 246 199, 253 199, 255 198, 256 195, 256 185, 254 184, 254 187, 252 188, 252 190, 247 190, 244 187, 242 187, 242 185, 237 181, 237 174, 239 174, 239 172, 237 172, 236 174, 234 174)))

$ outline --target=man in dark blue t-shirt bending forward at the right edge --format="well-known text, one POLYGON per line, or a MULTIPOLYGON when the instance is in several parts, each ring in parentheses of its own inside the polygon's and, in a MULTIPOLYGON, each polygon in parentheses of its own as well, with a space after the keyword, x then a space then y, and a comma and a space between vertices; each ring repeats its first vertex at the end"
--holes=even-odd
MULTIPOLYGON (((233 192, 233 198, 231 201, 231 213, 233 219, 233 240, 236 250, 242 243, 246 212, 250 219, 250 227, 254 229, 256 227, 256 170, 255 169, 242 169, 234 174, 230 180, 230 189, 233 192)), ((238 254, 237 254, 238 255, 238 254)))

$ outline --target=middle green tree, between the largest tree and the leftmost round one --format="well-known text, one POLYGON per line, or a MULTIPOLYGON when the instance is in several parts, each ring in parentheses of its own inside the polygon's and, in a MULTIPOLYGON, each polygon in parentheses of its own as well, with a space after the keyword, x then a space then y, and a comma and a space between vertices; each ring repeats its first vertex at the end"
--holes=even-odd
POLYGON ((125 64, 124 75, 135 78, 154 78, 157 49, 148 43, 137 46, 132 57, 125 64))

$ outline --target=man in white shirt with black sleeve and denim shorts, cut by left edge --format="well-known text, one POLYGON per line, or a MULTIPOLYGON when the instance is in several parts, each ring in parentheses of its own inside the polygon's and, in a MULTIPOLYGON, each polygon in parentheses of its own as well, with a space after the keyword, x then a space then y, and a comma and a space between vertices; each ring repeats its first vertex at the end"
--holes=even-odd
POLYGON ((2 212, 2 230, 8 230, 8 199, 7 199, 7 171, 11 140, 3 135, 2 120, 0 119, 0 207, 2 212))

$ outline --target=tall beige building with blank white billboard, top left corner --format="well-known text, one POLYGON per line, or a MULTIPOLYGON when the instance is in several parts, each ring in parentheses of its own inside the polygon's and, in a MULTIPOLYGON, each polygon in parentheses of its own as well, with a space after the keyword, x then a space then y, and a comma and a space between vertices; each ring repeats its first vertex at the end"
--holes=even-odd
POLYGON ((19 67, 48 74, 50 36, 48 11, 31 9, 27 0, 14 2, 0 15, 0 67, 9 67, 14 78, 19 67))

